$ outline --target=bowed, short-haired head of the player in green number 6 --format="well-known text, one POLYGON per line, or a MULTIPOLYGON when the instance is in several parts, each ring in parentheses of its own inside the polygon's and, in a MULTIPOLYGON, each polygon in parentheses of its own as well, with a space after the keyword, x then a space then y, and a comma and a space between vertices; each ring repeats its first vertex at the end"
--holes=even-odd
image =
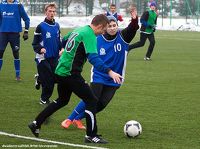
POLYGON ((92 19, 90 26, 94 30, 94 33, 98 35, 103 34, 106 31, 108 23, 108 18, 103 14, 99 14, 92 19))

